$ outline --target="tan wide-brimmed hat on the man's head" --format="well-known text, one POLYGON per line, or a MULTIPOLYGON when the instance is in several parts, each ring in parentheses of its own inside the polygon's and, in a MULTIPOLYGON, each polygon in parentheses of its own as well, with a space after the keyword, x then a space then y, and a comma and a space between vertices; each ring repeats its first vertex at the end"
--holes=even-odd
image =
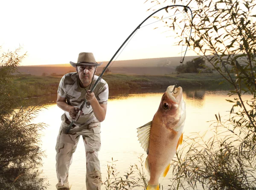
POLYGON ((74 63, 74 62, 70 61, 70 64, 73 67, 76 67, 76 66, 79 66, 79 65, 84 65, 84 66, 96 65, 96 67, 97 67, 99 65, 102 65, 102 62, 97 63, 94 56, 93 56, 93 53, 82 52, 78 55, 77 63, 74 63))

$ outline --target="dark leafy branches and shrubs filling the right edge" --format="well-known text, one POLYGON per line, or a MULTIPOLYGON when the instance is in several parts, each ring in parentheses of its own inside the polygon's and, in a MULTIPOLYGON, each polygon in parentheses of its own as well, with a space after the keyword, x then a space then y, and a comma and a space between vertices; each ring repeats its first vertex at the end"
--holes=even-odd
MULTIPOLYGON (((162 6, 158 0, 151 3, 162 6)), ((184 138, 183 151, 179 150, 173 162, 170 189, 255 190, 256 3, 253 0, 172 0, 172 3, 193 7, 190 47, 232 86, 228 95, 234 98, 227 99, 233 104, 229 119, 215 115, 211 138, 207 139, 205 133, 184 138), (243 99, 243 94, 250 94, 251 99, 243 99)), ((176 9, 173 10, 180 11, 176 9)), ((186 33, 191 22, 182 28, 175 17, 166 21, 166 26, 186 33)))

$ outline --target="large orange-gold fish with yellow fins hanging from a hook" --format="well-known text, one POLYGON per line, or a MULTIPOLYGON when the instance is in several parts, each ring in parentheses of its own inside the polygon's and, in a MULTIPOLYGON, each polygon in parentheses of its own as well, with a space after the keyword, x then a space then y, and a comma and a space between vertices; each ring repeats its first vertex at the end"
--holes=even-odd
POLYGON ((159 178, 170 169, 176 150, 183 141, 186 103, 181 87, 170 85, 163 94, 151 122, 137 128, 138 140, 147 153, 145 168, 150 175, 147 190, 159 190, 159 178))

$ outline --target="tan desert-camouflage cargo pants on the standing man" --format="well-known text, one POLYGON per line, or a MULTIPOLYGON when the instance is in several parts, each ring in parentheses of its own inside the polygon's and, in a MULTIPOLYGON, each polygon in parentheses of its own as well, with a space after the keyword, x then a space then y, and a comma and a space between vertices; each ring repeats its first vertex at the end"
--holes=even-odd
POLYGON ((65 130, 69 124, 64 121, 64 117, 64 115, 61 116, 62 123, 55 147, 58 178, 56 188, 69 190, 68 171, 72 163, 72 155, 76 151, 80 136, 82 136, 86 153, 86 189, 100 190, 102 181, 98 158, 98 151, 101 147, 100 122, 95 120, 88 125, 72 127, 66 134, 65 130))

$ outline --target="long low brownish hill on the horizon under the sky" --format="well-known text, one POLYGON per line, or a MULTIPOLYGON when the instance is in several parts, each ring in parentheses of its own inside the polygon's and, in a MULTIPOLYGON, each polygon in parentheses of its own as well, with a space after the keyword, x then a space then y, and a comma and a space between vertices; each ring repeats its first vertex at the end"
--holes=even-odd
MULTIPOLYGON (((183 63, 195 59, 198 56, 187 56, 183 63)), ((97 74, 101 73, 108 62, 98 68, 97 74)), ((180 57, 162 57, 140 60, 120 60, 111 62, 111 73, 113 74, 136 74, 136 75, 165 75, 175 72, 175 68, 180 65, 180 57)), ((60 65, 32 65, 20 66, 18 71, 22 74, 31 74, 41 76, 43 73, 50 75, 65 74, 69 72, 76 72, 69 63, 60 65)))

